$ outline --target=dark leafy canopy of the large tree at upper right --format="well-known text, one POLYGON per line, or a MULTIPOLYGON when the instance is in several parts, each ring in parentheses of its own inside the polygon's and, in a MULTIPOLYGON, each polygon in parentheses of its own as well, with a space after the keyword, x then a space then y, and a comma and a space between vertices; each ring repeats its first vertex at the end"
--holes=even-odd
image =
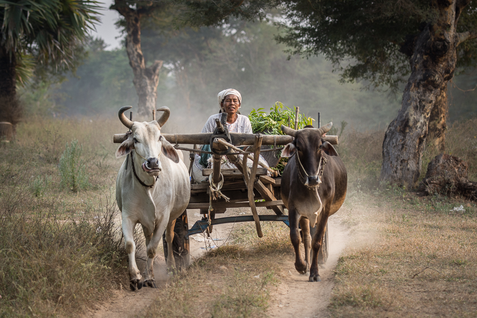
MULTIPOLYGON (((283 1, 286 34, 280 42, 291 54, 325 54, 345 81, 366 79, 397 89, 410 74, 409 57, 416 36, 439 14, 428 0, 283 1)), ((477 31, 477 4, 461 13, 458 32, 477 31)), ((469 34, 471 35, 471 34, 469 34)), ((458 48, 457 67, 477 61, 477 42, 458 48)))

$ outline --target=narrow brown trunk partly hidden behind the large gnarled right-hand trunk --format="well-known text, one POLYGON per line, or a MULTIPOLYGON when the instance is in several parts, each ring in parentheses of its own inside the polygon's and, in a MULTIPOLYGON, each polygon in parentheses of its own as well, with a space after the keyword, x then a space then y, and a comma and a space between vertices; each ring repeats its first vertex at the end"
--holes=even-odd
POLYGON ((445 133, 447 130, 447 113, 449 106, 447 104, 447 86, 444 87, 440 94, 435 98, 434 107, 432 107, 429 117, 429 142, 434 148, 440 152, 444 152, 445 145, 445 133))

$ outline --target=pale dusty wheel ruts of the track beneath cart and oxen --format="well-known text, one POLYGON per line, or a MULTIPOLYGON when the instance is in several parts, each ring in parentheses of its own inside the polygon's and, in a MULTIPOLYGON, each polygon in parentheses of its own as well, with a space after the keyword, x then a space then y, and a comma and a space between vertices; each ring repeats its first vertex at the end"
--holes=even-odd
MULTIPOLYGON (((227 211, 227 216, 238 213, 249 212, 250 209, 235 209, 235 211, 227 211)), ((198 210, 189 210, 189 227, 198 220, 198 210)), ((327 306, 329 297, 333 289, 332 270, 345 247, 348 232, 341 225, 338 215, 334 215, 329 220, 329 258, 326 268, 320 269, 322 281, 319 283, 308 282, 308 274, 301 275, 294 268, 294 259, 279 261, 282 264, 280 273, 281 283, 271 295, 270 307, 268 315, 273 318, 285 317, 326 317, 329 316, 327 306)), ((223 238, 223 241, 213 241, 209 244, 220 246, 226 242, 226 239, 233 227, 237 225, 227 224, 214 227, 213 237, 223 238)), ((190 250, 191 261, 194 257, 204 253, 205 242, 197 242, 191 238, 190 250)), ((154 274, 157 286, 165 286, 168 275, 165 268, 164 256, 160 253, 154 262, 154 274)), ((142 262, 138 262, 140 270, 144 266, 142 262)), ((157 290, 152 288, 142 288, 131 292, 129 286, 122 286, 121 290, 111 294, 109 301, 97 305, 87 311, 85 317, 106 318, 119 317, 129 318, 137 315, 141 316, 144 309, 147 308, 157 296, 157 290)))

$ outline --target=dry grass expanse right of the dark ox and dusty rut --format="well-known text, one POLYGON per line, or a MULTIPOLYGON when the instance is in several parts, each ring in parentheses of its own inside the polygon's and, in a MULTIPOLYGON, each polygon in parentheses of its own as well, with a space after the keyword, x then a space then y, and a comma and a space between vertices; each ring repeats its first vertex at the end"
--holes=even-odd
POLYGON ((475 204, 394 191, 353 205, 342 216, 356 243, 335 269, 333 316, 475 315, 475 204))

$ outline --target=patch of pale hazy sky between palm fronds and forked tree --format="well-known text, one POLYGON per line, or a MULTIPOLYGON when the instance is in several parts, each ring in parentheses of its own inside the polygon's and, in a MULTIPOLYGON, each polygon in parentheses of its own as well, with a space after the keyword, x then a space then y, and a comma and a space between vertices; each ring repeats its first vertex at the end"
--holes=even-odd
POLYGON ((101 24, 96 26, 96 32, 91 32, 94 37, 101 37, 104 39, 107 45, 106 49, 113 50, 118 47, 121 47, 121 39, 117 38, 121 33, 116 29, 114 23, 120 17, 120 14, 115 10, 109 10, 109 6, 113 3, 112 0, 99 0, 103 3, 102 7, 104 10, 101 10, 103 14, 101 16, 101 24))

